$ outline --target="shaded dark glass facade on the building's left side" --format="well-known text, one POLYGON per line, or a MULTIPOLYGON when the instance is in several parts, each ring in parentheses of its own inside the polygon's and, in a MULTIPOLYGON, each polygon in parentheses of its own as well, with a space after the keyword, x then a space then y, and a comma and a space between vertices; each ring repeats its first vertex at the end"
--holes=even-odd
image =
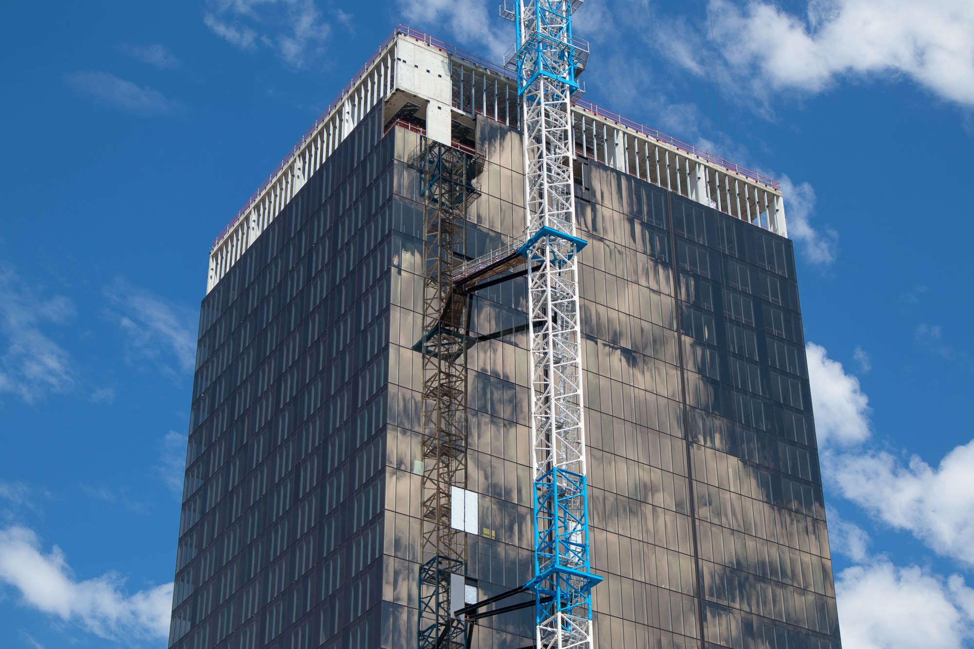
POLYGON ((374 646, 393 139, 368 115, 206 296, 169 646, 374 646))

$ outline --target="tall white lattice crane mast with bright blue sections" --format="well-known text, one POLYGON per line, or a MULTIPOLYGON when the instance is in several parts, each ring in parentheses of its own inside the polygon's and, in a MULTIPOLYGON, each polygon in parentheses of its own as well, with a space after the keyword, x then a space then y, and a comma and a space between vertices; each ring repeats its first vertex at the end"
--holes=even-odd
POLYGON ((515 0, 527 187, 535 592, 538 649, 592 646, 581 329, 572 175, 571 95, 583 55, 572 37, 581 0, 515 0))

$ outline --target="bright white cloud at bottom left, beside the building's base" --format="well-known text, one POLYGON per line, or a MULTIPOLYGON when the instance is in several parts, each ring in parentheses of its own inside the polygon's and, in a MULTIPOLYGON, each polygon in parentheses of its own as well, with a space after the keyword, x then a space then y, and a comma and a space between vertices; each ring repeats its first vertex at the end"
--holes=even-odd
POLYGON ((0 530, 0 581, 19 592, 21 604, 115 640, 169 635, 172 584, 132 594, 125 579, 108 573, 77 581, 56 546, 44 554, 26 527, 0 530))

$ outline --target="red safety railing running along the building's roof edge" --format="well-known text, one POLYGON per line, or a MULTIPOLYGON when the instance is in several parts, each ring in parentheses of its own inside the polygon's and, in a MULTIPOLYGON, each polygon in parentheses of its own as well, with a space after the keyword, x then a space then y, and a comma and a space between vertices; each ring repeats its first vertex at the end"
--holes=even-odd
MULTIPOLYGON (((424 31, 420 31, 419 29, 414 29, 404 24, 396 25, 395 29, 393 29, 393 33, 391 33, 382 42, 382 45, 380 45, 376 49, 376 51, 372 54, 371 57, 368 57, 368 60, 365 61, 365 64, 362 65, 360 68, 358 68, 358 71, 356 72, 355 76, 353 76, 352 80, 345 85, 345 88, 342 89, 342 92, 339 93, 334 99, 332 99, 331 103, 328 104, 327 108, 325 108, 318 116, 318 119, 315 120, 315 123, 311 125, 311 128, 308 129, 308 131, 306 131, 305 134, 301 136, 301 138, 297 141, 297 143, 291 147, 290 151, 287 152, 287 155, 284 156, 284 158, 281 160, 281 163, 274 169, 274 172, 271 172, 271 175, 269 175, 268 178, 263 183, 261 183, 260 187, 257 188, 257 191, 255 191, 253 195, 249 199, 247 199, 247 202, 244 204, 244 207, 237 212, 237 215, 234 216, 233 220, 231 220, 230 223, 228 223, 227 226, 223 228, 223 231, 220 232, 219 236, 213 241, 213 248, 216 248, 219 245, 219 243, 223 240, 223 238, 226 237, 227 234, 229 234, 229 232, 234 228, 234 226, 236 226, 240 222, 240 220, 244 218, 244 214, 247 212, 247 210, 253 207, 253 204, 256 203, 257 199, 260 198, 260 195, 264 193, 264 191, 271 185, 272 182, 274 182, 274 179, 278 177, 278 174, 281 173, 281 171, 285 169, 289 164, 291 164, 291 161, 294 160, 294 156, 297 155, 298 151, 301 150, 301 148, 305 145, 308 139, 315 133, 316 130, 318 130, 318 127, 328 118, 328 116, 338 106, 338 104, 345 99, 346 95, 349 94, 352 88, 365 75, 365 72, 368 71, 368 68, 371 67, 371 65, 379 57, 382 56, 382 54, 386 51, 386 49, 392 44, 393 39, 398 35, 409 36, 410 38, 420 41, 421 43, 425 43, 426 45, 430 45, 434 48, 438 48, 439 50, 442 50, 447 54, 461 57, 467 60, 468 62, 474 63, 488 70, 496 72, 500 75, 506 76, 509 79, 516 79, 516 75, 511 70, 507 69, 504 65, 500 63, 496 63, 487 60, 486 58, 478 57, 465 50, 461 50, 455 45, 451 45, 450 43, 441 41, 438 38, 434 38, 430 34, 424 31)), ((741 175, 757 180, 758 182, 764 183, 774 189, 779 189, 778 181, 774 180, 773 178, 769 178, 767 175, 763 173, 754 172, 744 167, 741 167, 735 163, 732 163, 730 160, 725 160, 720 156, 714 155, 708 151, 704 151, 703 149, 699 149, 693 146, 693 144, 688 144, 687 142, 683 142, 675 137, 671 137, 670 135, 660 133, 656 131, 656 129, 651 129, 647 126, 639 124, 638 122, 634 122, 630 119, 622 117, 618 113, 614 113, 611 110, 606 110, 605 108, 597 106, 588 101, 583 101, 582 99, 576 100, 575 105, 595 115, 598 115, 599 117, 612 120, 613 122, 616 122, 620 126, 624 126, 626 128, 632 129, 633 131, 637 131, 641 134, 646 134, 651 137, 655 137, 659 141, 666 142, 667 144, 671 144, 683 151, 686 151, 687 153, 692 153, 695 156, 703 158, 707 162, 713 163, 715 165, 720 165, 721 167, 724 167, 725 169, 730 170, 731 172, 740 173, 741 175)), ((397 125, 403 126, 405 128, 409 128, 410 130, 414 130, 414 131, 416 130, 416 128, 414 128, 412 125, 408 125, 408 123, 406 122, 397 123, 397 125)), ((465 150, 469 148, 469 147, 464 147, 463 145, 460 145, 457 142, 454 142, 454 146, 457 146, 458 148, 462 148, 465 150)), ((468 152, 472 153, 472 151, 468 151, 468 152)))

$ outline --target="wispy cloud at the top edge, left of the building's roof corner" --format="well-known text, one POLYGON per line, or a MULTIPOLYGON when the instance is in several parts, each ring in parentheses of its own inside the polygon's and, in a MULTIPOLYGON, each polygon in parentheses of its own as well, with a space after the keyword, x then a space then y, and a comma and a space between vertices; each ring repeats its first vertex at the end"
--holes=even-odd
MULTIPOLYGON (((339 11, 338 19, 348 16, 339 11)), ((323 54, 331 34, 314 0, 209 0, 203 21, 231 45, 270 47, 295 67, 323 54)))

